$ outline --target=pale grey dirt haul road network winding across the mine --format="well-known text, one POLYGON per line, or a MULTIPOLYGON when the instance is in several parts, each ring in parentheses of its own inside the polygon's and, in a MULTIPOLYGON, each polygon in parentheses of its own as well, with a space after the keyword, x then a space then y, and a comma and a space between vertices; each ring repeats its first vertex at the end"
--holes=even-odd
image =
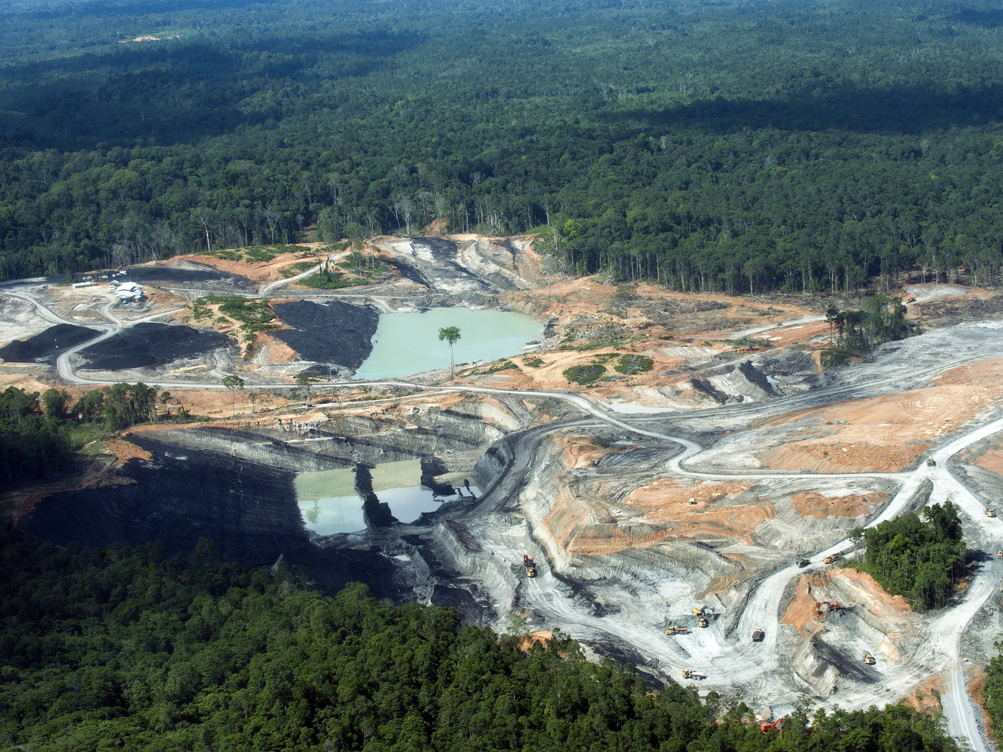
MULTIPOLYGON (((4 291, 8 295, 21 298, 35 305, 42 315, 55 323, 72 324, 35 300, 30 294, 4 291)), ((125 324, 114 317, 110 310, 105 311, 108 318, 113 321, 105 333, 99 335, 87 343, 83 343, 78 348, 68 351, 60 356, 57 361, 60 376, 67 381, 74 383, 111 383, 102 381, 92 381, 76 376, 71 365, 68 363, 69 356, 76 349, 82 349, 87 345, 106 339, 120 331, 125 324)), ((143 320, 158 318, 171 312, 163 312, 143 320)), ((934 369, 931 369, 934 370, 934 369)), ((933 375, 933 373, 931 373, 933 375)), ((362 382, 349 382, 353 386, 362 385, 362 382)), ((219 383, 193 384, 174 382, 153 382, 156 386, 170 387, 202 387, 202 388, 222 388, 219 383)), ((964 436, 952 441, 934 452, 938 464, 935 467, 922 465, 918 469, 908 473, 840 473, 840 474, 815 474, 798 472, 747 472, 747 473, 702 473, 683 467, 683 463, 692 466, 703 448, 689 439, 672 436, 669 434, 641 428, 636 423, 613 417, 605 410, 597 406, 591 400, 578 394, 569 394, 557 391, 524 391, 507 390, 489 387, 454 386, 454 387, 429 387, 421 384, 411 384, 404 381, 377 381, 365 382, 365 385, 394 385, 412 386, 416 388, 429 389, 434 391, 462 391, 485 394, 511 394, 530 397, 552 397, 554 399, 568 402, 581 411, 594 416, 607 424, 617 426, 634 434, 648 436, 661 441, 674 442, 682 445, 682 454, 668 461, 667 467, 671 472, 697 479, 762 479, 762 478, 832 478, 832 477, 858 477, 858 478, 892 478, 901 482, 899 492, 892 501, 885 507, 881 514, 871 521, 877 524, 885 519, 894 517, 901 511, 903 506, 912 498, 916 488, 924 479, 930 479, 934 484, 934 493, 931 494, 931 502, 934 499, 954 500, 966 518, 969 526, 974 525, 978 530, 978 536, 982 542, 987 542, 989 538, 1003 538, 1003 521, 1000 519, 990 519, 984 514, 983 505, 968 491, 947 468, 948 460, 956 452, 964 447, 981 440, 992 433, 1003 429, 1003 418, 972 430, 964 436)), ((294 385, 268 385, 266 388, 290 388, 294 385)), ((842 396, 851 387, 831 390, 828 397, 842 396)), ((528 456, 524 455, 519 462, 519 468, 523 473, 529 468, 532 461, 532 452, 528 456)), ((508 495, 508 494, 506 494, 508 495)), ((518 560, 520 548, 524 542, 513 541, 512 545, 505 545, 504 541, 498 548, 503 555, 509 560, 518 560)), ((974 542, 974 541, 973 541, 974 542)), ((843 551, 851 545, 849 540, 843 540, 835 545, 829 546, 825 550, 816 552, 810 556, 810 570, 817 569, 820 560, 830 552, 843 551)), ((973 546, 975 547, 975 546, 973 546)), ((542 552, 542 551, 538 551, 542 552)), ((543 556, 541 559, 543 560, 543 556)), ((702 684, 708 688, 726 689, 742 685, 749 687, 753 683, 762 686, 762 682, 768 674, 775 670, 778 665, 776 655, 776 634, 779 629, 778 608, 781 596, 787 588, 789 582, 801 574, 804 570, 799 570, 794 566, 789 566, 767 578, 752 594, 745 606, 743 615, 738 623, 737 639, 729 639, 728 635, 721 633, 715 627, 708 630, 700 630, 696 639, 686 641, 685 646, 681 643, 672 643, 652 639, 652 630, 646 626, 639 626, 631 622, 629 618, 622 615, 609 615, 596 617, 586 613, 584 607, 577 607, 575 601, 570 596, 567 585, 559 581, 549 569, 543 569, 541 576, 529 583, 527 589, 528 602, 541 613, 551 619, 572 626, 584 632, 585 639, 593 638, 603 640, 604 638, 614 644, 626 644, 640 655, 653 661, 663 670, 679 670, 681 668, 698 669, 708 674, 708 679, 702 684), (750 652, 751 630, 755 627, 762 627, 766 631, 766 640, 759 644, 755 652, 750 652)), ((996 565, 995 560, 990 566, 983 567, 982 571, 975 577, 962 601, 954 608, 946 610, 935 622, 934 628, 929 630, 925 640, 916 651, 915 656, 907 661, 901 661, 894 667, 882 667, 881 680, 866 688, 858 690, 855 694, 845 693, 840 695, 840 704, 845 708, 865 707, 873 703, 881 703, 889 699, 895 699, 906 694, 922 684, 931 676, 948 672, 951 680, 951 691, 945 694, 944 711, 951 724, 952 733, 958 737, 967 737, 973 749, 983 749, 984 743, 979 736, 979 724, 975 717, 973 704, 964 691, 964 678, 961 674, 959 661, 959 643, 965 629, 974 615, 982 608, 986 600, 993 593, 999 582, 1003 578, 1003 567, 996 565)))

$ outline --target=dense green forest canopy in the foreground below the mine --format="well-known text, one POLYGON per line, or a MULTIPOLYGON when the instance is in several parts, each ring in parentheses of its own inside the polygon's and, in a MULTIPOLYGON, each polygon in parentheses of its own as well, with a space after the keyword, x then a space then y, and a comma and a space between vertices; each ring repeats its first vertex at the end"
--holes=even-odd
POLYGON ((0 528, 0 748, 46 750, 947 750, 907 705, 788 715, 645 686, 560 637, 460 626, 200 541, 60 548, 0 528), (717 722, 717 716, 723 720, 717 722), (813 725, 809 725, 813 722, 813 725))

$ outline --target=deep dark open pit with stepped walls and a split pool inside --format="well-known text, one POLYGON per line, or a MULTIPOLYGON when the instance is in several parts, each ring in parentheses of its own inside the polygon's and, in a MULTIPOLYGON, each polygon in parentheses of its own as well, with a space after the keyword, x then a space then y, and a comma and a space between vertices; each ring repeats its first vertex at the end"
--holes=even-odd
POLYGON ((488 448, 500 425, 528 416, 457 395, 442 402, 319 422, 141 430, 127 439, 135 456, 38 501, 27 527, 58 543, 158 541, 172 552, 207 537, 247 565, 282 556, 305 567, 330 593, 362 582, 380 598, 453 606, 484 624, 486 599, 443 562, 439 529, 493 478, 497 450, 488 448))

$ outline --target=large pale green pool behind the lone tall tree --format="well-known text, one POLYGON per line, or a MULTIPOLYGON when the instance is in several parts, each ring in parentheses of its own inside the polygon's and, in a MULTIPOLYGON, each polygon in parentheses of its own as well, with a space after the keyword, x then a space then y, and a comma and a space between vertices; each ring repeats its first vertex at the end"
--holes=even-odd
POLYGON ((544 333, 539 321, 512 311, 433 308, 382 314, 373 350, 355 378, 384 379, 448 368, 449 346, 438 341, 438 330, 450 326, 459 328, 459 341, 453 345, 457 364, 516 355, 544 333))

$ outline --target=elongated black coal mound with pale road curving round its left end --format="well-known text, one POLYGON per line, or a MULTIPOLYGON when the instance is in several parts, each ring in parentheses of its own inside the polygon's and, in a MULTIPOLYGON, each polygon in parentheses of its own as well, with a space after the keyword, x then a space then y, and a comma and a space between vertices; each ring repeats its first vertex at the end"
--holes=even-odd
POLYGON ((185 325, 143 322, 80 351, 87 368, 120 371, 149 368, 180 358, 196 358, 221 347, 233 347, 220 332, 201 332, 185 325))

